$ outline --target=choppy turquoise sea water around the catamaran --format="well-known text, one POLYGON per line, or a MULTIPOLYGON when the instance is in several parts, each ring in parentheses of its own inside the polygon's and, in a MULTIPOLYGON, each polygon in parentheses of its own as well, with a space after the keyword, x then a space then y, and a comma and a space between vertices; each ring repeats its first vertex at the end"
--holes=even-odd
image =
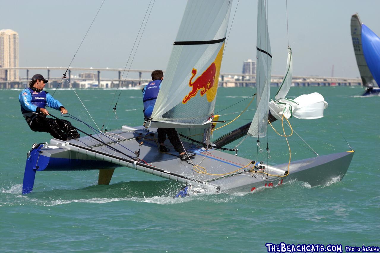
MULTIPOLYGON (((272 94, 275 91, 272 88, 272 94)), ((112 111, 107 116, 115 92, 77 90, 99 127, 105 120, 108 129, 141 125, 139 90, 123 90, 119 119, 112 111)), ((254 92, 220 88, 215 111, 254 92)), ((0 251, 266 252, 268 242, 380 246, 380 98, 356 96, 363 93, 361 87, 292 87, 289 95, 312 92, 329 103, 325 117, 291 119, 291 124, 319 155, 350 150, 347 140, 356 152, 342 181, 317 187, 290 182, 250 194, 173 199, 179 185, 128 168, 116 169, 108 186, 96 185, 98 171, 39 172, 33 193, 23 196, 26 153, 33 143, 51 137, 28 128, 19 109, 19 90, 0 90, 0 251)), ((57 90, 54 97, 71 114, 92 123, 72 90, 57 90)), ((220 114, 242 111, 249 100, 220 114)), ((59 116, 58 111, 49 112, 59 116)), ((214 138, 247 123, 253 112, 215 131, 214 138)), ((90 132, 82 123, 71 122, 90 132)), ((269 163, 287 162, 285 140, 271 129, 268 134, 269 163)), ((313 157, 301 139, 290 139, 292 160, 313 157)), ((243 142, 238 155, 254 159, 255 140, 243 142)))

